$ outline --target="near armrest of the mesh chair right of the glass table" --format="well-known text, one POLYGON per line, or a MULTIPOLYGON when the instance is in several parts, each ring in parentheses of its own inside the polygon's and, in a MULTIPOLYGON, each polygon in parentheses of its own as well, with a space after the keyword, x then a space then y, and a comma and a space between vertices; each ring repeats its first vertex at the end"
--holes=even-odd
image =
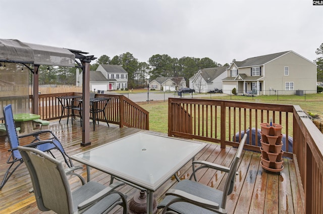
MULTIPOLYGON (((186 202, 192 203, 194 205, 201 206, 203 208, 208 207, 208 208, 212 208, 212 209, 220 209, 220 205, 218 203, 216 203, 214 201, 206 200, 204 198, 200 198, 196 195, 189 194, 189 193, 184 192, 182 190, 169 189, 166 192, 166 195, 173 195, 173 196, 179 197, 182 199, 180 201, 186 201, 186 202)), ((179 201, 178 199, 173 199, 173 200, 179 201)), ((169 204, 171 204, 171 203, 172 202, 169 202, 169 204)))

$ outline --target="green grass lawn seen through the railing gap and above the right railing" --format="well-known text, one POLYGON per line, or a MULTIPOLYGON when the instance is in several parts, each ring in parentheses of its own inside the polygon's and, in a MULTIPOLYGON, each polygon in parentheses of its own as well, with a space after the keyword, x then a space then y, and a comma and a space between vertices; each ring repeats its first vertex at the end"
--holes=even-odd
MULTIPOLYGON (((198 98, 198 94, 194 96, 198 98)), ((298 95, 277 96, 221 96, 212 97, 214 99, 226 100, 245 100, 246 102, 263 102, 275 104, 293 104, 299 105, 304 111, 312 114, 323 115, 323 94, 308 94, 306 97, 298 95), (306 101, 305 101, 306 99, 306 101)), ((158 102, 149 104, 140 104, 142 108, 149 112, 149 130, 167 133, 168 132, 168 102, 158 102)))

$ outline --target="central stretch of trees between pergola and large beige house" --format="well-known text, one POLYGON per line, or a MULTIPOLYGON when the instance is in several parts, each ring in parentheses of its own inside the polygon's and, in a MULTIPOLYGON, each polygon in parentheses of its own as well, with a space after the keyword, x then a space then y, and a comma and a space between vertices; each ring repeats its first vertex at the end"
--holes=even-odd
POLYGON ((209 58, 182 57, 177 59, 167 54, 153 55, 149 58, 148 63, 145 63, 139 62, 130 52, 115 56, 112 59, 103 55, 96 60, 96 63, 91 65, 91 70, 96 70, 99 64, 122 66, 128 72, 129 88, 146 86, 147 81, 156 77, 184 77, 188 82, 188 79, 199 69, 222 66, 209 58))

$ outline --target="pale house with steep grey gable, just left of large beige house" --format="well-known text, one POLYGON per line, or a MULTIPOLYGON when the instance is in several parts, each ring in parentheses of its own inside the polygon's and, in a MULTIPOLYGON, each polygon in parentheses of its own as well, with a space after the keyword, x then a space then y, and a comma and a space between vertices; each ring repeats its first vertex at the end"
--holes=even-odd
POLYGON ((189 87, 198 93, 208 92, 216 88, 222 89, 222 79, 227 77, 228 66, 200 69, 189 78, 189 87))

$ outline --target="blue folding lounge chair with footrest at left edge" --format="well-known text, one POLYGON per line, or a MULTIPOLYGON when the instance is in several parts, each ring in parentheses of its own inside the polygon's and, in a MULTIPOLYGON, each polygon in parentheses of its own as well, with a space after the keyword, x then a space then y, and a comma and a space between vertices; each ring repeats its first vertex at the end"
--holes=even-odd
POLYGON ((80 167, 80 166, 79 167, 74 167, 73 166, 72 160, 67 155, 67 153, 65 152, 61 142, 59 141, 59 139, 50 130, 41 130, 41 131, 37 131, 37 132, 34 132, 34 133, 18 136, 18 134, 16 132, 16 125, 15 125, 15 121, 14 121, 14 117, 13 117, 13 113, 12 113, 11 104, 4 107, 4 119, 5 119, 5 126, 6 126, 6 130, 7 130, 7 136, 8 136, 8 140, 9 140, 9 143, 10 143, 9 151, 11 152, 11 154, 10 154, 8 160, 7 160, 7 164, 10 164, 10 167, 7 170, 7 172, 5 173, 5 177, 4 177, 4 179, 3 179, 2 183, 1 183, 0 190, 5 186, 5 184, 7 183, 9 178, 12 176, 12 174, 24 162, 23 159, 22 159, 22 156, 21 156, 21 154, 20 154, 20 152, 18 151, 18 148, 17 148, 19 146, 19 139, 20 138, 33 136, 34 139, 32 140, 32 142, 30 144, 28 144, 28 145, 25 145, 25 146, 34 147, 34 148, 37 148, 37 149, 39 149, 41 151, 48 152, 53 157, 55 157, 55 156, 53 155, 51 150, 52 149, 58 149, 62 153, 62 156, 64 157, 65 163, 69 167, 69 170, 67 171, 67 174, 68 173, 73 173, 74 170, 82 169, 82 167, 80 167), (46 139, 46 140, 40 140, 40 135, 45 134, 45 133, 49 133, 50 138, 46 139), (13 170, 10 172, 11 168, 15 164, 17 164, 16 167, 14 167, 13 170))

